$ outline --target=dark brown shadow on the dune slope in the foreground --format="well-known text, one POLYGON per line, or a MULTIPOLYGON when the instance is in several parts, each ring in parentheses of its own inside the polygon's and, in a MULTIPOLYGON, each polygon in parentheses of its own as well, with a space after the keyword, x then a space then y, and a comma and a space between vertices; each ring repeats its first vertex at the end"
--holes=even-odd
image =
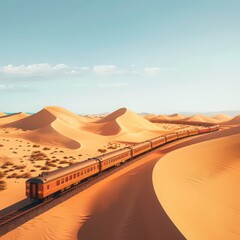
POLYGON ((107 183, 94 199, 89 219, 79 229, 79 240, 185 239, 156 197, 152 171, 161 156, 160 152, 156 155, 155 160, 107 183))

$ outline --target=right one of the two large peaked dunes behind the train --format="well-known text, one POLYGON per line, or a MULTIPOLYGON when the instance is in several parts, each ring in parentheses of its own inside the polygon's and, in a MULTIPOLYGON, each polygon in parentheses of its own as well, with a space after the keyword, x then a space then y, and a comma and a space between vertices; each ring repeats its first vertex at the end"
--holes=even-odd
POLYGON ((105 136, 143 130, 160 131, 159 127, 126 108, 120 108, 94 123, 89 123, 84 129, 105 136))

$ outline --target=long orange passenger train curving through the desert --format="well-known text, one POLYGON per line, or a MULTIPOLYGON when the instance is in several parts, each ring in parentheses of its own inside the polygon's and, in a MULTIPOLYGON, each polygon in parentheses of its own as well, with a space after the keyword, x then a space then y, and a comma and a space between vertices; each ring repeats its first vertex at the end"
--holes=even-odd
POLYGON ((125 147, 107 154, 93 157, 52 172, 43 172, 38 177, 26 181, 26 196, 32 201, 44 200, 65 191, 89 177, 95 176, 111 167, 120 165, 136 156, 188 136, 219 130, 218 125, 199 127, 191 130, 172 132, 145 142, 125 147))

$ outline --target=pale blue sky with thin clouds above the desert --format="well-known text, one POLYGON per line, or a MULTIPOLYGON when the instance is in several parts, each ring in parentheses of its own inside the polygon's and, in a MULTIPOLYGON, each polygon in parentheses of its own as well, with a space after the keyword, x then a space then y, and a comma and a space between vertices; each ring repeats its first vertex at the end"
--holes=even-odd
POLYGON ((239 0, 0 0, 0 112, 239 109, 239 0))

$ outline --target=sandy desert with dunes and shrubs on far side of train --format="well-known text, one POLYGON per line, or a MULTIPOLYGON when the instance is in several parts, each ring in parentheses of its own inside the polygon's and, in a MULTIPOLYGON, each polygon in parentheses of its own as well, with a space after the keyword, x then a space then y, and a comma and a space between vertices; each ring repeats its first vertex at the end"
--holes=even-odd
POLYGON ((24 198, 25 178, 172 131, 167 126, 126 108, 90 118, 50 106, 0 118, 0 172, 8 186, 0 191, 0 209, 24 198))

